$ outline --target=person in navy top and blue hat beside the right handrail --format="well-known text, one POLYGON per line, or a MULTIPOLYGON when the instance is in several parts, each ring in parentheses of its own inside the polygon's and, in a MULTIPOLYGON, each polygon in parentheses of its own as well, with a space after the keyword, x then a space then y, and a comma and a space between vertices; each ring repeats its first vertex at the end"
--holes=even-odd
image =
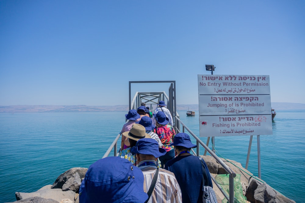
POLYGON ((210 187, 213 184, 209 170, 204 170, 200 159, 190 154, 191 148, 197 145, 192 144, 188 134, 178 133, 170 146, 174 146, 178 156, 168 161, 164 168, 175 174, 181 188, 182 202, 202 202, 203 184, 210 187))

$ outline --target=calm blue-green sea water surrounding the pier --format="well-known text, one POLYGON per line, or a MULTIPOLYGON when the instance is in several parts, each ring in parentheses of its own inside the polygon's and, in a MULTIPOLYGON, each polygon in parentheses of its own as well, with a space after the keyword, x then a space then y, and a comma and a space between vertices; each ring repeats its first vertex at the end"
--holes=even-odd
MULTIPOLYGON (((88 168, 102 158, 125 123, 127 112, 0 114, 0 202, 16 201, 15 192, 34 192, 53 184, 73 167, 88 168)), ((199 137, 199 116, 181 121, 199 137)), ((260 135, 261 178, 295 200, 305 201, 305 111, 277 111, 273 134, 260 135)), ((206 143, 207 138, 200 138, 206 143)), ((219 156, 246 166, 250 136, 215 137, 219 156)), ((192 138, 192 142, 196 143, 192 138)), ((211 142, 209 145, 211 149, 211 142)), ((203 147, 200 154, 203 154, 203 147)), ((114 152, 110 153, 113 156, 114 152)), ((258 176, 257 136, 248 170, 258 176)))

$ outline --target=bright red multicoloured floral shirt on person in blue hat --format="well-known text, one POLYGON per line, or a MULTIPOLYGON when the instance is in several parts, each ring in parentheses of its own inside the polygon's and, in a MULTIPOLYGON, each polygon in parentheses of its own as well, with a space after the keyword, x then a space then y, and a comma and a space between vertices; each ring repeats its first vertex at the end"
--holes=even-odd
POLYGON ((170 145, 170 143, 173 142, 173 138, 174 136, 176 135, 176 132, 173 128, 173 126, 167 124, 167 125, 164 125, 164 126, 161 126, 161 127, 156 127, 154 130, 153 130, 154 133, 156 133, 163 146, 162 148, 165 149, 167 152, 170 151, 171 149, 174 149, 173 146, 168 146, 170 145))

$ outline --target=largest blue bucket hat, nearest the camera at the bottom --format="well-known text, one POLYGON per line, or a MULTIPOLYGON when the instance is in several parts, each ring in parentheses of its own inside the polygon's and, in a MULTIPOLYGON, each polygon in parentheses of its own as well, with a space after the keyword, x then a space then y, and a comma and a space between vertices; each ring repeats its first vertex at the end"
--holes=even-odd
POLYGON ((142 171, 130 161, 118 156, 106 157, 93 163, 79 189, 82 203, 145 202, 142 171))

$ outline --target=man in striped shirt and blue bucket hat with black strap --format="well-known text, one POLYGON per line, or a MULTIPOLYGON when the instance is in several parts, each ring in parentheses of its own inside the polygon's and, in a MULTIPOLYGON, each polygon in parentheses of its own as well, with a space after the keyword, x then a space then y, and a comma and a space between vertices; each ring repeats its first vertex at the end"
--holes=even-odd
POLYGON ((157 159, 166 154, 166 150, 159 148, 156 140, 152 138, 139 139, 137 144, 131 148, 136 154, 138 167, 144 174, 144 191, 148 192, 153 177, 157 173, 156 184, 153 187, 148 202, 182 202, 181 189, 174 173, 158 168, 157 159))

